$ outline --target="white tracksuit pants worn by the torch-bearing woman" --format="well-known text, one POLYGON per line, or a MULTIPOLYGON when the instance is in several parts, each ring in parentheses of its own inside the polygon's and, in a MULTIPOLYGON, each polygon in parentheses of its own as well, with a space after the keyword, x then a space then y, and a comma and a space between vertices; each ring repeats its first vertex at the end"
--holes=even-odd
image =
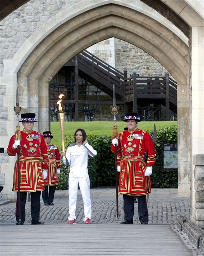
POLYGON ((83 221, 86 221, 87 218, 91 219, 91 198, 90 198, 90 179, 87 177, 73 178, 69 177, 69 217, 68 220, 75 220, 76 215, 76 205, 77 205, 77 192, 78 184, 80 187, 80 192, 83 198, 84 206, 84 218, 83 221))

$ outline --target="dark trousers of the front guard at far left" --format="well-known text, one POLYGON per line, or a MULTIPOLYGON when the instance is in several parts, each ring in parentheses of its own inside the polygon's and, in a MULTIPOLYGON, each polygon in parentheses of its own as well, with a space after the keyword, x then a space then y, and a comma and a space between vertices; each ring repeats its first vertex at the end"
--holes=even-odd
MULTIPOLYGON (((18 198, 18 194, 19 194, 19 192, 17 192, 17 198, 18 198)), ((32 222, 40 220, 40 194, 41 194, 41 191, 31 192, 31 219, 32 219, 32 222)), ((25 203, 26 203, 27 192, 20 192, 20 195, 21 195, 21 222, 24 222, 25 221, 25 203)), ((15 218, 16 218, 16 221, 19 221, 18 200, 16 201, 15 218)))

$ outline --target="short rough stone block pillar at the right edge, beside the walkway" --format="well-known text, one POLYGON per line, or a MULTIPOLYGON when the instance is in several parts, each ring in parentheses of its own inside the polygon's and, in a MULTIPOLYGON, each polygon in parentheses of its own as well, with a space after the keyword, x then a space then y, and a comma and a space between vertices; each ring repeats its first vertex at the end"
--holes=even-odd
POLYGON ((193 156, 195 189, 195 224, 204 228, 204 154, 193 156))

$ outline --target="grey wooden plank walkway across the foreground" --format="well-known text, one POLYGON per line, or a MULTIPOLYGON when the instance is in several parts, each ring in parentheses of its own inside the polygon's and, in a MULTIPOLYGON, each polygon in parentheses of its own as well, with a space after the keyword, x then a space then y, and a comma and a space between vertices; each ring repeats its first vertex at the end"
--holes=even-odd
POLYGON ((191 256, 170 225, 1 225, 0 255, 191 256))

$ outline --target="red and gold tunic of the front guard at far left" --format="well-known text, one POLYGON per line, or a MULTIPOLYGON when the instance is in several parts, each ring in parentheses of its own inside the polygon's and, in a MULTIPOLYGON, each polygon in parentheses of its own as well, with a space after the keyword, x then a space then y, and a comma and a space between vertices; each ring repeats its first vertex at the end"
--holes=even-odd
MULTIPOLYGON (((44 190, 43 170, 48 170, 47 147, 43 135, 37 131, 21 131, 19 146, 20 192, 36 192, 44 190)), ((9 141, 7 153, 15 156, 17 148, 12 147, 15 135, 9 141)), ((17 161, 14 167, 13 190, 18 191, 17 161)))

